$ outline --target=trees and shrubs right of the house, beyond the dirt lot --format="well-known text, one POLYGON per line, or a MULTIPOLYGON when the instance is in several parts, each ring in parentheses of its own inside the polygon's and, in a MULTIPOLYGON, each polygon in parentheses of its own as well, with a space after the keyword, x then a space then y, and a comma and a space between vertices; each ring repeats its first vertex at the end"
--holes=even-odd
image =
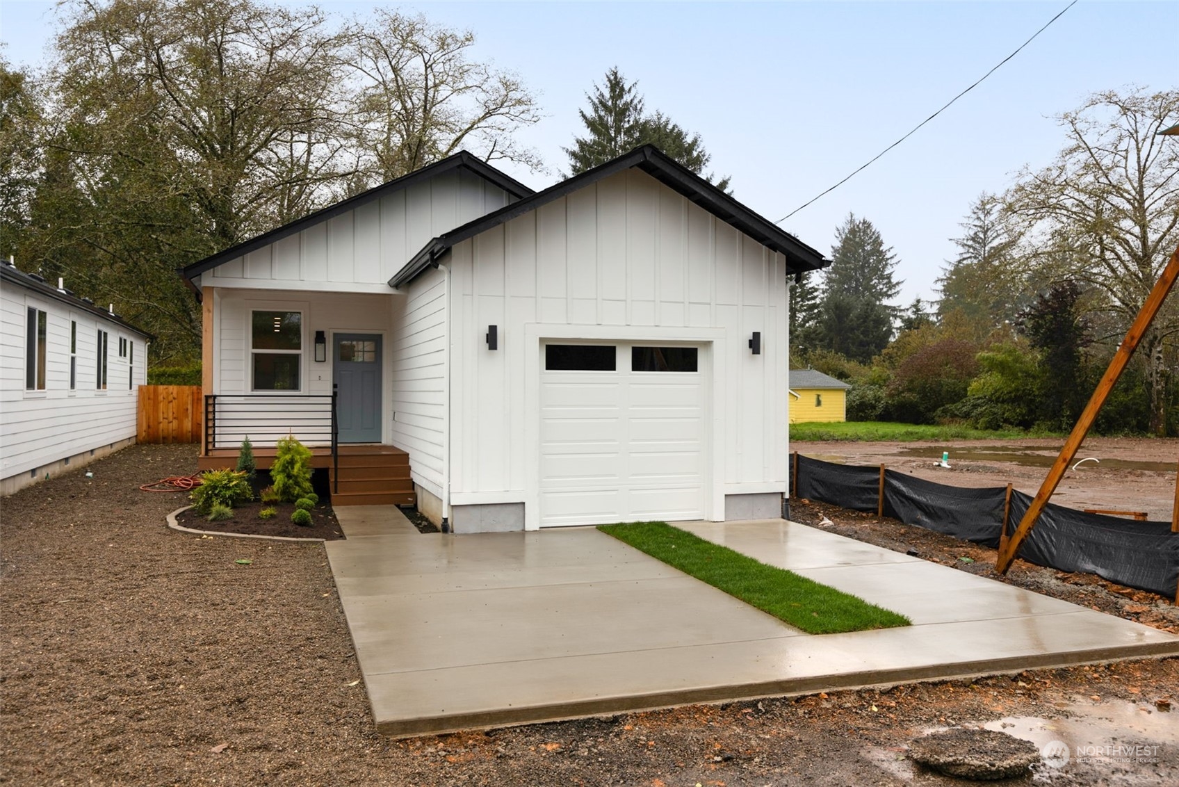
MULTIPOLYGON (((970 205, 940 297, 891 303, 896 256, 849 215, 791 289, 791 365, 850 382, 850 420, 1068 431, 1179 245, 1179 91, 1089 97, 1065 146, 970 205)), ((1179 433, 1179 297, 1142 336, 1104 433, 1179 433)))

